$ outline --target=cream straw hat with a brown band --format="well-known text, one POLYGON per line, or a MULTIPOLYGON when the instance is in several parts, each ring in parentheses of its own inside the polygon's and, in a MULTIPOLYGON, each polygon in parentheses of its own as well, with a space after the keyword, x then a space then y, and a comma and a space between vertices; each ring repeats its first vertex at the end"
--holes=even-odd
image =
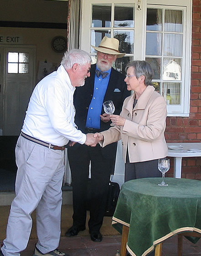
POLYGON ((119 52, 119 40, 116 38, 104 37, 98 47, 91 46, 101 53, 115 54, 117 58, 122 58, 125 55, 125 53, 119 52))

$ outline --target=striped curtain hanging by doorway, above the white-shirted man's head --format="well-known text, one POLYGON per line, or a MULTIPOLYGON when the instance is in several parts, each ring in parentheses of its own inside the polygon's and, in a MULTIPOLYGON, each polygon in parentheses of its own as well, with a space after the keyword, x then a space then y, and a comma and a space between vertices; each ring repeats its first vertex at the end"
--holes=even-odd
POLYGON ((67 17, 67 49, 79 48, 80 0, 69 0, 67 17))

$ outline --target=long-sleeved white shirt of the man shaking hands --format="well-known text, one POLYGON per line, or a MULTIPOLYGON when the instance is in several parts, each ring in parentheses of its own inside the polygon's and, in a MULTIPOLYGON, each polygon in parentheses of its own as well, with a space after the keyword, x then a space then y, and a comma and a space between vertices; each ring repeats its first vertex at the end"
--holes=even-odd
POLYGON ((57 146, 69 140, 84 144, 86 135, 74 123, 74 91, 67 71, 60 65, 33 90, 21 131, 57 146))

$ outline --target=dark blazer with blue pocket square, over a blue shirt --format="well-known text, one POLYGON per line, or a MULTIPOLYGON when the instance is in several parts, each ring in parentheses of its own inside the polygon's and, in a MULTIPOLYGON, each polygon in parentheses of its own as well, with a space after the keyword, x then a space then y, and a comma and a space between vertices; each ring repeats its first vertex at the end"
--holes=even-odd
MULTIPOLYGON (((74 107, 76 110, 75 124, 78 126, 78 129, 84 133, 86 133, 86 118, 94 93, 95 66, 96 64, 91 65, 90 77, 86 78, 85 85, 83 87, 76 87, 74 93, 74 107)), ((114 70, 113 68, 111 69, 110 80, 103 102, 107 100, 113 101, 115 105, 114 114, 120 114, 124 99, 131 94, 129 91, 127 91, 127 85, 124 82, 124 78, 125 76, 120 72, 114 70)), ((101 114, 103 113, 105 113, 105 111, 102 107, 101 114)), ((104 123, 100 120, 100 131, 108 130, 111 127, 110 124, 111 122, 104 123)), ((101 151, 106 158, 113 158, 113 155, 116 155, 116 143, 112 143, 107 147, 102 148, 101 151), (112 151, 115 153, 112 154, 112 151)))

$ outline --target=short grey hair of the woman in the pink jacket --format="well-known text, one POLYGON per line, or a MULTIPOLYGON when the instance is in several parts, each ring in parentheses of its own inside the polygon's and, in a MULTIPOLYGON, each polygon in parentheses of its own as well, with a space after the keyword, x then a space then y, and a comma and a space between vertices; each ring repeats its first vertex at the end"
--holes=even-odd
POLYGON ((129 67, 134 68, 134 75, 138 79, 140 76, 145 76, 144 84, 146 86, 152 84, 153 69, 151 65, 145 60, 134 60, 126 65, 125 72, 129 67))

